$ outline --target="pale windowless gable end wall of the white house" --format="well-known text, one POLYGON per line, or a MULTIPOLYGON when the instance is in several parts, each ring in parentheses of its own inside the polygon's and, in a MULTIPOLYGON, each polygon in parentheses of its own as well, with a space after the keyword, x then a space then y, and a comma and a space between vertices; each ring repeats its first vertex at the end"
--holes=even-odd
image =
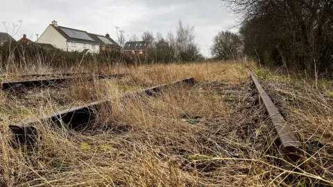
POLYGON ((67 39, 63 37, 53 26, 48 26, 38 38, 38 43, 52 44, 56 48, 67 51, 67 39))

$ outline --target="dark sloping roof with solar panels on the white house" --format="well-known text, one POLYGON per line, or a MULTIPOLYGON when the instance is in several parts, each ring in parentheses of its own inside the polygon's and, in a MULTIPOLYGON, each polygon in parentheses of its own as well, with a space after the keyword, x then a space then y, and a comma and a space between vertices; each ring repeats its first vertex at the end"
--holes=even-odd
POLYGON ((65 37, 69 41, 83 42, 83 43, 88 43, 88 44, 99 44, 99 42, 96 42, 94 39, 89 37, 87 31, 85 31, 85 30, 67 28, 65 26, 54 26, 53 24, 50 24, 50 26, 55 28, 58 31, 58 33, 60 33, 63 37, 65 37), (67 32, 67 33, 65 33, 65 32, 67 32), (78 36, 74 37, 76 34, 78 34, 78 36), (71 36, 69 36, 69 35, 71 35, 71 36), (83 38, 86 38, 86 39, 83 39, 83 38))

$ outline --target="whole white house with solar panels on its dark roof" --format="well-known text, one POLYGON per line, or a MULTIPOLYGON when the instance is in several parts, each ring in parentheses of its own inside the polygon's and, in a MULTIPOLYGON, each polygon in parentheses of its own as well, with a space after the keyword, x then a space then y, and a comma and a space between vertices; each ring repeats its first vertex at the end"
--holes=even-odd
POLYGON ((100 37, 95 36, 97 35, 87 33, 84 30, 58 26, 57 21, 53 20, 44 33, 40 35, 38 43, 51 44, 64 51, 91 51, 92 53, 99 53, 103 45, 120 48, 110 37, 110 39, 104 37, 106 40, 103 42, 100 37))

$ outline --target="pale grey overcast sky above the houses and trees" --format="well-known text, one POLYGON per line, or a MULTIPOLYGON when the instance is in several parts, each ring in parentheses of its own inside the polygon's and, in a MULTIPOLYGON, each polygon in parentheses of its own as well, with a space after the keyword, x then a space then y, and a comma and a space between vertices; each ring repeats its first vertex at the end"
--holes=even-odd
MULTIPOLYGON (((140 36, 145 30, 160 32, 176 30, 178 20, 195 26, 196 43, 203 55, 210 55, 212 38, 219 30, 230 29, 234 17, 223 10, 219 0, 5 0, 0 6, 0 22, 22 20, 15 35, 24 33, 33 41, 55 19, 58 25, 86 30, 89 33, 109 33, 117 39, 115 26, 125 30, 125 35, 140 36)), ((7 25, 8 26, 8 25, 7 25)), ((16 27, 16 30, 19 26, 16 27)), ((0 32, 6 27, 0 24, 0 32)))

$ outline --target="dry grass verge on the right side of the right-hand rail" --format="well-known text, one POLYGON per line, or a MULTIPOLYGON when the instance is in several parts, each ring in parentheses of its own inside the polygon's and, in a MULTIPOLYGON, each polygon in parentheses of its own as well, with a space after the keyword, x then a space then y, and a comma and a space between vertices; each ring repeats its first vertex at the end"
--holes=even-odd
MULTIPOLYGON (((316 84, 280 76, 267 78, 264 85, 306 150, 298 167, 332 185, 332 82, 320 80, 316 84)), ((306 186, 325 184, 302 175, 300 181, 306 186)))

